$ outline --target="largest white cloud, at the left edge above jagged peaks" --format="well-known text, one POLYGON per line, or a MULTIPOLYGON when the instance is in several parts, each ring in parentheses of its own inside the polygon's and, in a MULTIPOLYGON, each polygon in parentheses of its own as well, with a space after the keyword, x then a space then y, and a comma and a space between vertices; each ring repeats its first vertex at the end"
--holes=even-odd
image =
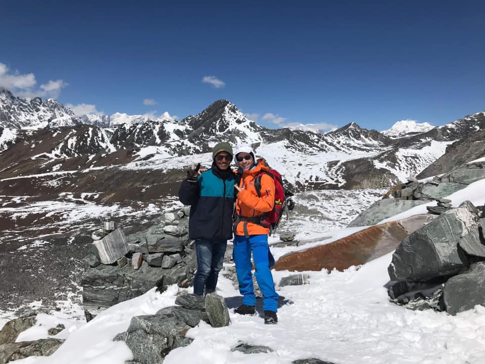
POLYGON ((33 73, 20 74, 19 71, 11 72, 6 64, 0 63, 0 88, 6 88, 20 97, 59 97, 61 89, 68 85, 62 79, 50 80, 35 88, 37 81, 33 73))

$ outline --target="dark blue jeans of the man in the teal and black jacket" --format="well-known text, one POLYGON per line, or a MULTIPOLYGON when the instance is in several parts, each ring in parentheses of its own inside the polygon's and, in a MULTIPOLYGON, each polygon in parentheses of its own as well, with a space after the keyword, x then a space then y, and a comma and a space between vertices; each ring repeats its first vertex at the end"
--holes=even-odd
POLYGON ((193 293, 199 296, 216 290, 217 278, 224 261, 227 240, 196 240, 197 272, 193 278, 193 293))

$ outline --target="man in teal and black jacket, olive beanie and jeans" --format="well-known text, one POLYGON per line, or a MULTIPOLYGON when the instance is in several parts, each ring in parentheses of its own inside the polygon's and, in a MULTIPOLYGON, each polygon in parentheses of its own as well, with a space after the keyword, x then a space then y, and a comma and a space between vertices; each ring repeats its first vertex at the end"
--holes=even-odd
POLYGON ((216 290, 227 240, 232 239, 235 175, 230 169, 232 147, 219 143, 212 150, 212 166, 198 175, 187 171, 178 198, 190 205, 188 235, 195 240, 197 272, 193 293, 203 296, 216 290))

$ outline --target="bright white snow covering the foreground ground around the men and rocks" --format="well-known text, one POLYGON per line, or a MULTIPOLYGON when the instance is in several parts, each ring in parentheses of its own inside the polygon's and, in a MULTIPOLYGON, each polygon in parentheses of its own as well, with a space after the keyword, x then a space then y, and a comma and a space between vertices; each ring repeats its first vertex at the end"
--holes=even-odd
MULTIPOLYGON (((485 179, 448 198, 454 206, 467 199, 479 206, 485 203, 484 190, 485 179)), ((386 220, 424 212, 424 206, 386 220)), ((300 248, 272 248, 272 251, 278 257, 290 250, 329 243, 359 229, 362 228, 324 234, 302 231, 301 234, 311 236, 315 241, 300 248)), ((277 325, 264 325, 258 315, 241 316, 232 312, 228 327, 216 329, 201 322, 187 332, 194 341, 187 347, 171 351, 164 364, 179 364, 189 359, 198 364, 289 364, 310 357, 342 364, 485 362, 485 307, 476 306, 451 316, 432 310, 408 310, 390 303, 383 285, 389 280, 387 266, 391 256, 389 253, 344 272, 307 271, 310 275, 308 285, 279 289, 286 304, 278 310, 277 325), (265 345, 273 351, 259 354, 232 351, 240 342, 265 345)), ((289 274, 288 271, 273 272, 275 282, 289 274)), ((170 286, 159 294, 153 289, 107 309, 87 324, 69 321, 59 314, 41 315, 39 323, 22 333, 19 340, 46 337, 46 327, 63 323, 66 329, 56 337, 67 338, 66 342, 50 357, 29 357, 15 363, 123 364, 131 359, 131 352, 123 342, 113 342, 112 338, 127 329, 131 317, 153 314, 162 307, 173 305, 180 290, 170 286)), ((238 292, 224 276, 218 283, 218 293, 231 304, 240 302, 238 292)), ((261 302, 258 302, 261 309, 260 306, 261 302)))

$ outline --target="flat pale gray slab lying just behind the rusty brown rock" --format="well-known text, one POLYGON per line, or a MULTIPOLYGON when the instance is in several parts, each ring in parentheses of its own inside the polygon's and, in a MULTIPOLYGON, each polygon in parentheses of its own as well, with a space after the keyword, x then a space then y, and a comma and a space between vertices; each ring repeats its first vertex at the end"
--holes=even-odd
POLYGON ((400 199, 379 200, 370 205, 367 210, 361 212, 347 227, 353 228, 355 226, 374 225, 387 217, 397 215, 425 202, 421 200, 400 199))

